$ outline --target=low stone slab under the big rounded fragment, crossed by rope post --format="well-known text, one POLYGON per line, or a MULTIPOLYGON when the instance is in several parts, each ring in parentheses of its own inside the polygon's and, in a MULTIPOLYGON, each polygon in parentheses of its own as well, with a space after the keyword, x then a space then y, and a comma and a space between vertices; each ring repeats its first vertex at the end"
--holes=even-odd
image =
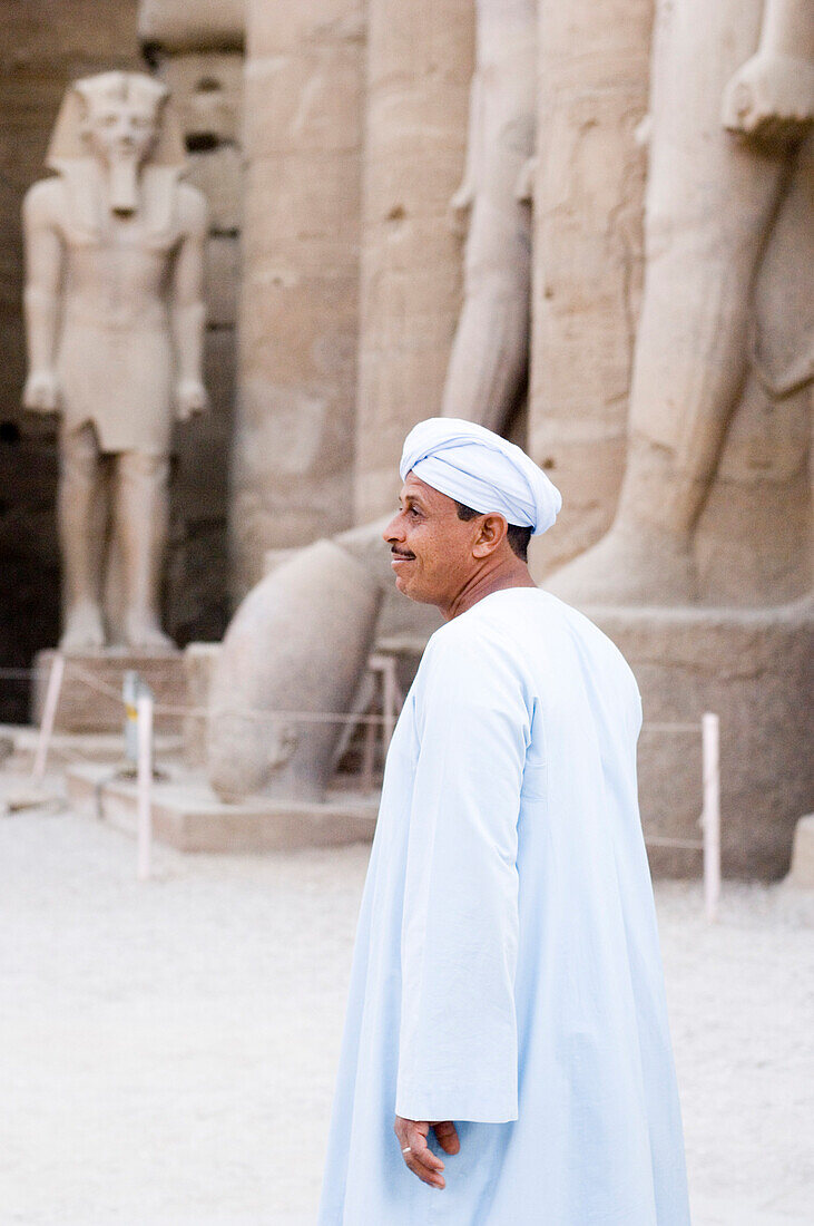
MULTIPOLYGON (((70 801, 80 812, 136 832, 136 785, 110 766, 72 766, 70 801)), ((378 797, 337 793, 319 804, 272 803, 262 798, 223 804, 201 774, 174 772, 153 786, 153 834, 185 852, 295 851, 370 842, 378 797)))

